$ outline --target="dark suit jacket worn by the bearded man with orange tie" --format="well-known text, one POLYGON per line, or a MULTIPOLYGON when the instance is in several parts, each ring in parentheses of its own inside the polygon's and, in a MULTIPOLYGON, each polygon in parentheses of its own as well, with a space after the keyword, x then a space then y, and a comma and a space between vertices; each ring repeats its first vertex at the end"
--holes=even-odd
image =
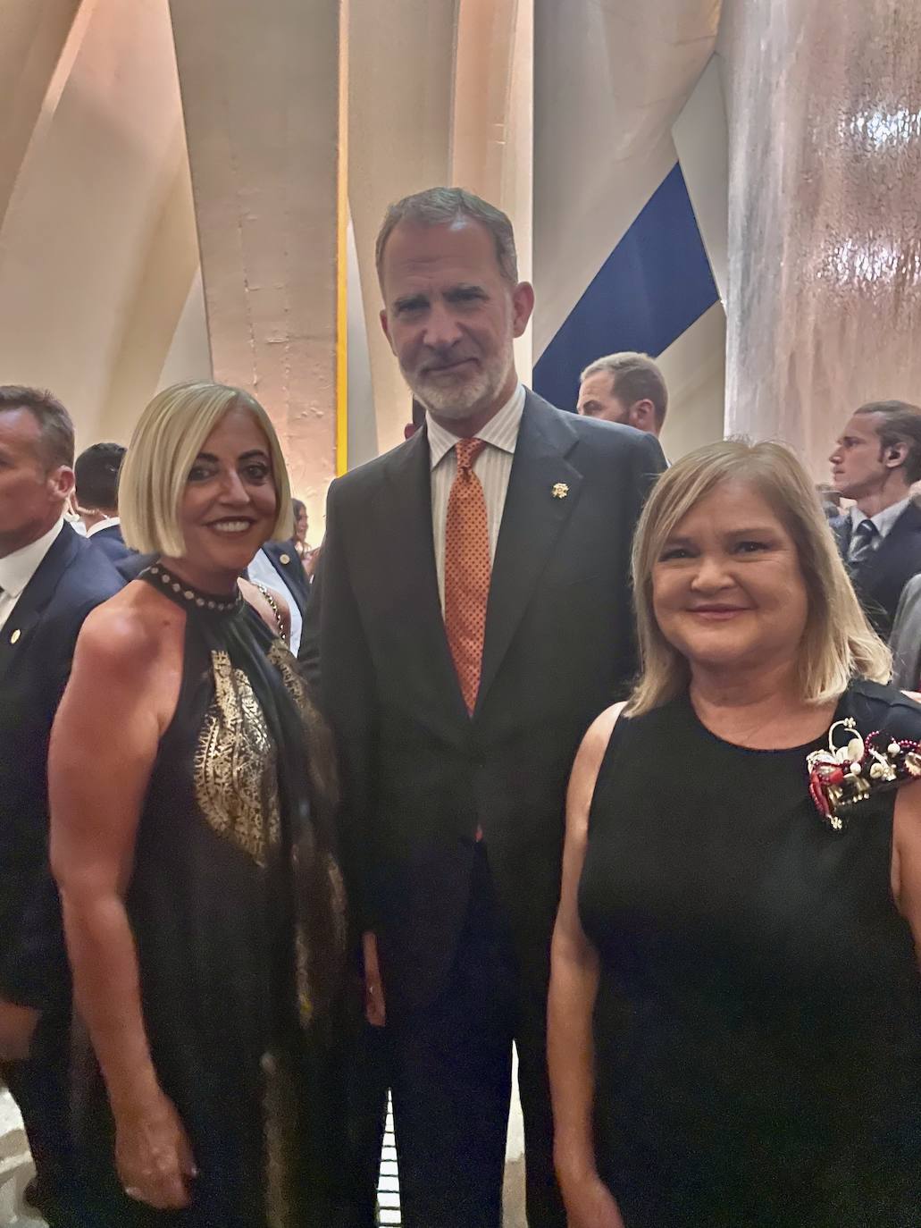
POLYGON ((442 987, 478 825, 522 969, 545 979, 566 782, 635 668, 630 545, 663 464, 652 436, 528 393, 473 717, 438 599, 426 432, 330 488, 321 688, 352 907, 378 935, 389 1001, 425 1005, 442 987))

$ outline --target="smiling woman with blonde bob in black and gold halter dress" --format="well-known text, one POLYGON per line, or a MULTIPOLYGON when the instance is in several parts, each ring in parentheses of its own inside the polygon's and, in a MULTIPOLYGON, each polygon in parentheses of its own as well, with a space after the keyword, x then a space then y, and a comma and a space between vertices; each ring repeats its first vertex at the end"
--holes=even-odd
POLYGON ((333 769, 271 612, 238 586, 290 518, 265 410, 221 384, 160 393, 119 510, 155 561, 87 619, 49 763, 93 1210, 336 1224, 333 769))

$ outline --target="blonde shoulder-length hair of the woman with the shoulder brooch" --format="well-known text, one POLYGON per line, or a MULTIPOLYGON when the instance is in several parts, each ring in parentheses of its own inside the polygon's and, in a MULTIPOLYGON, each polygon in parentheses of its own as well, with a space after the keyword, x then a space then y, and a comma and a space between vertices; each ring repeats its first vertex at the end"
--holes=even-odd
POLYGON ((799 642, 801 694, 808 704, 839 698, 855 675, 884 683, 892 655, 855 596, 815 490, 780 443, 723 440, 683 457, 662 474, 634 539, 632 575, 641 674, 628 711, 639 716, 677 695, 690 679, 686 658, 666 640, 652 604, 652 572, 666 542, 701 499, 727 481, 752 486, 783 524, 799 556, 808 613, 799 642))

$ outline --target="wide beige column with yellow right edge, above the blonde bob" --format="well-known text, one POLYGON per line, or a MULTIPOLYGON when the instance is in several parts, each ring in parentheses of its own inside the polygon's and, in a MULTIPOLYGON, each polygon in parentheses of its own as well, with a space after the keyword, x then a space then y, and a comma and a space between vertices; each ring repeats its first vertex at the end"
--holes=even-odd
POLYGON ((339 0, 171 0, 217 379, 321 523, 335 474, 339 0))

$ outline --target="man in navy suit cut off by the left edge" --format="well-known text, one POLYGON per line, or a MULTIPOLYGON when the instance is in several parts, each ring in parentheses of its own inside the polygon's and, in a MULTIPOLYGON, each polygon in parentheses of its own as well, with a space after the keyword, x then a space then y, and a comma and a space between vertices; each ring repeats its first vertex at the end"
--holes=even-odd
POLYGON ((48 740, 82 621, 122 587, 64 522, 72 464, 64 406, 0 387, 0 1072, 53 1228, 85 1219, 66 1095, 70 980, 48 863, 48 740))

